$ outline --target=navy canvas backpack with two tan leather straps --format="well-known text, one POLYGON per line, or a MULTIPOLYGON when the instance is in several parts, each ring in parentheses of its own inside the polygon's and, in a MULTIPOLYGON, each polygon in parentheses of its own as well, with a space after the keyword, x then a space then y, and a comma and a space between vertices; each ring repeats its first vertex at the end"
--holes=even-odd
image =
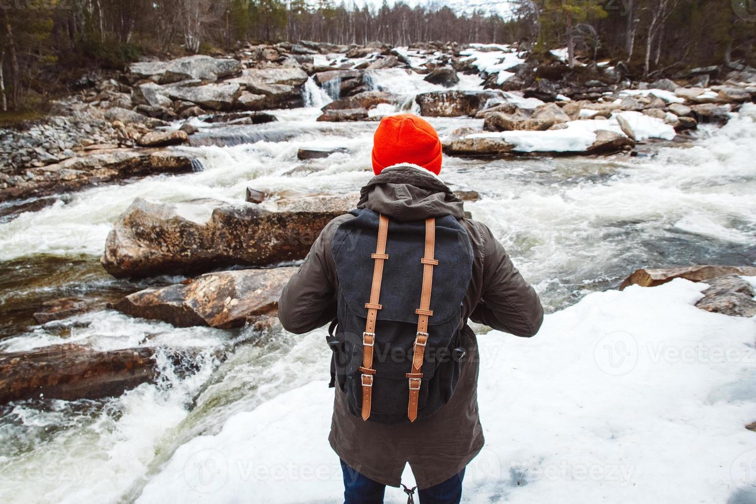
POLYGON ((328 336, 331 385, 364 420, 427 418, 451 399, 464 357, 469 238, 451 215, 406 222, 370 209, 352 215, 332 241, 339 294, 328 336))

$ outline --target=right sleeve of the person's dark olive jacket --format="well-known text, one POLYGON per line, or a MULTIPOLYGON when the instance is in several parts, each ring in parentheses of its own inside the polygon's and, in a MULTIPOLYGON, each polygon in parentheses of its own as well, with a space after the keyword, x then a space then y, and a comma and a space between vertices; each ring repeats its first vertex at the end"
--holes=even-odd
POLYGON ((483 290, 470 319, 513 335, 534 336, 544 321, 541 299, 514 267, 491 230, 482 224, 481 227, 485 243, 483 290))

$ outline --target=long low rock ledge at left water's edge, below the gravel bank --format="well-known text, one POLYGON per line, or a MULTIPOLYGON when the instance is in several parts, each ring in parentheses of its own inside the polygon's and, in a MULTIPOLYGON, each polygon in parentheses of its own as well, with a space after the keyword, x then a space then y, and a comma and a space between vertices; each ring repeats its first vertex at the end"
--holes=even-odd
POLYGON ((27 169, 14 178, 13 185, 0 190, 0 200, 50 196, 125 178, 190 172, 192 159, 181 153, 155 149, 98 150, 45 168, 27 169))

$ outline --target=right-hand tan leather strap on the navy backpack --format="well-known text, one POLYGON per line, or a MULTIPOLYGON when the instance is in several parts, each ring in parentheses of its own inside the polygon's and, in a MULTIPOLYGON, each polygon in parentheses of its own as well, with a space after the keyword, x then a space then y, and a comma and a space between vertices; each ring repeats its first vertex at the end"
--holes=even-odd
POLYGON ((428 318, 432 317, 430 309, 430 294, 433 286, 433 267, 438 266, 438 261, 433 258, 435 249, 435 218, 426 218, 426 243, 425 255, 420 259, 423 264, 423 292, 420 295, 420 308, 415 310, 417 314, 417 335, 415 335, 414 353, 412 356, 412 373, 407 373, 410 385, 410 400, 407 406, 407 417, 410 422, 417 419, 417 400, 420 395, 420 385, 423 383, 423 357, 428 343, 428 318))

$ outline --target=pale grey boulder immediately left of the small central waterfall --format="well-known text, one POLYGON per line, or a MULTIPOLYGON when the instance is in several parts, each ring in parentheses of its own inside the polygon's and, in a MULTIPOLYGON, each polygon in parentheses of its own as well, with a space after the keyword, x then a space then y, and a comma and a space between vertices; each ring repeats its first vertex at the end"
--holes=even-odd
POLYGON ((251 94, 264 96, 260 108, 251 109, 249 105, 246 106, 247 110, 262 110, 302 107, 302 85, 307 79, 307 73, 298 66, 280 66, 247 69, 240 77, 227 82, 236 83, 251 94))

